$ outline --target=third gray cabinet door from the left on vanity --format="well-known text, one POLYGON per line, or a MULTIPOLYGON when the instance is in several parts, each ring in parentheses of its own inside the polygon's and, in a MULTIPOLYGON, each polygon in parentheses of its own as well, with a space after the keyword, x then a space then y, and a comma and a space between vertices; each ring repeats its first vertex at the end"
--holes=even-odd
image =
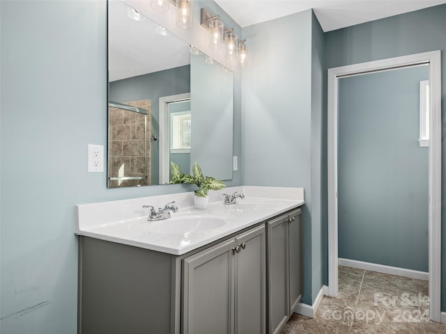
POLYGON ((288 217, 268 222, 268 333, 279 333, 289 319, 288 217))

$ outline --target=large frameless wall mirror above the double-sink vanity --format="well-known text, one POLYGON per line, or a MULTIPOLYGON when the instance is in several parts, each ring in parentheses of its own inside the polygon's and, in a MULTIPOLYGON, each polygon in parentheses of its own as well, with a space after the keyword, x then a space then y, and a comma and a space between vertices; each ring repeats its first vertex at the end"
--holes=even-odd
POLYGON ((170 161, 231 180, 233 73, 127 13, 109 1, 107 185, 168 184, 170 161))

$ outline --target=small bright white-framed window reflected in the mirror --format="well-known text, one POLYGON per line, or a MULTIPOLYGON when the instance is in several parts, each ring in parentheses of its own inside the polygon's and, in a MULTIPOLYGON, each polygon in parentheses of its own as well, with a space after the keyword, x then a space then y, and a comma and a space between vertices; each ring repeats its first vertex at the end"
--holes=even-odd
POLYGON ((171 113, 171 152, 190 152, 190 111, 171 113))

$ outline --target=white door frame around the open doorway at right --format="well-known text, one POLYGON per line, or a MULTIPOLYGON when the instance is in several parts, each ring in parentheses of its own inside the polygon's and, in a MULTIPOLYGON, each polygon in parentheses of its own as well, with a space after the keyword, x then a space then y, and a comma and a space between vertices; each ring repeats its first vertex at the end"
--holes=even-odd
POLYGON ((341 77, 429 64, 429 315, 440 322, 441 301, 441 51, 328 69, 328 296, 337 296, 338 83, 341 77))

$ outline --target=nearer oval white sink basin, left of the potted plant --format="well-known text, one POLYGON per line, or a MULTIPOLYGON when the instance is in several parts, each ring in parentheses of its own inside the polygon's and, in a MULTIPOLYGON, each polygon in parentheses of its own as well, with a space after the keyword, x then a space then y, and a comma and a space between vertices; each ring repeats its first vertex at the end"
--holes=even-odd
POLYGON ((154 234, 190 234, 221 228, 226 221, 206 216, 171 217, 151 224, 148 232, 154 234))

